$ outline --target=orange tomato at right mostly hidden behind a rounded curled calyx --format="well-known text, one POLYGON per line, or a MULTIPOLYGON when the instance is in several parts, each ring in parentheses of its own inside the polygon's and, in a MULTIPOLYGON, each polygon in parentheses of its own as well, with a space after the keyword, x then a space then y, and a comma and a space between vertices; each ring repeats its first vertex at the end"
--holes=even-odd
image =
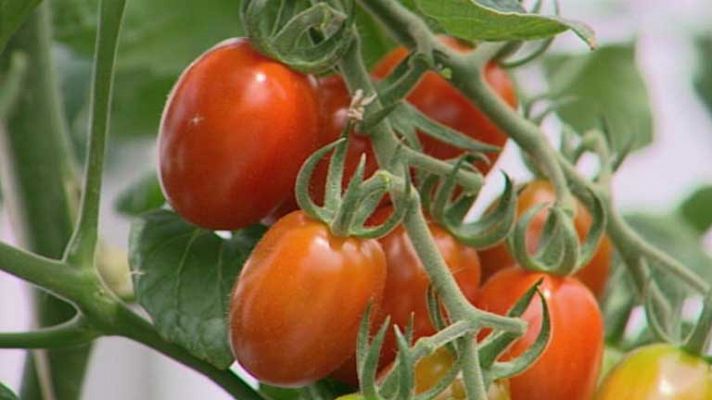
MULTIPOLYGON (((533 181, 519 193, 517 215, 521 216, 535 205, 552 202, 555 198, 551 183, 543 180, 533 181)), ((542 211, 534 218, 529 231, 527 231, 527 243, 532 247, 530 249, 532 251, 535 249, 539 236, 544 229, 545 222, 546 213, 542 211)), ((580 202, 577 202, 574 225, 581 240, 585 238, 591 224, 591 215, 580 202)), ((599 298, 606 288, 612 253, 613 246, 611 241, 608 236, 604 235, 591 261, 576 274, 576 277, 599 298)), ((480 251, 480 258, 482 260, 482 275, 485 280, 495 272, 516 264, 505 243, 480 251)))

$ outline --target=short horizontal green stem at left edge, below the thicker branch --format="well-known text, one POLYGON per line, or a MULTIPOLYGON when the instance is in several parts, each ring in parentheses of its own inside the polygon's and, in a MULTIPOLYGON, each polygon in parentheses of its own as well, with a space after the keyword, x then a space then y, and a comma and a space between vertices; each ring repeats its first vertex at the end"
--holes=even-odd
POLYGON ((3 349, 52 349, 90 343, 98 334, 80 315, 63 324, 31 332, 0 333, 3 349))

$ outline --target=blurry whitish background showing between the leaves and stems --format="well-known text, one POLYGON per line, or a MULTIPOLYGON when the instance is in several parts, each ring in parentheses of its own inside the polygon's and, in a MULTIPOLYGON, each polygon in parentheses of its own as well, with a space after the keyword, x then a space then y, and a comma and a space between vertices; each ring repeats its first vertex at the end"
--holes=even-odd
MULTIPOLYGON (((664 211, 702 183, 712 183, 712 117, 695 97, 691 77, 696 60, 691 38, 709 26, 712 1, 629 0, 562 1, 564 15, 590 23, 601 43, 638 38, 638 62, 652 98, 656 142, 631 156, 614 181, 616 201, 624 210, 664 211), (706 23, 706 25, 705 25, 706 23)), ((573 35, 557 46, 583 51, 573 35)), ((211 44, 206 43, 206 47, 211 44)), ((708 60, 712 62, 712 60, 708 60)), ((113 147, 105 199, 155 165, 153 143, 113 147)), ((511 149, 500 167, 524 176, 511 149)), ((105 201, 102 234, 125 247, 126 220, 113 215, 105 201)), ((0 239, 12 242, 0 214, 0 239)), ((708 241, 710 243, 710 241, 708 241)), ((27 288, 0 272, 0 331, 29 327, 27 288)), ((21 351, 0 350, 0 381, 19 386, 21 351)), ((84 388, 85 399, 228 398, 202 376, 121 338, 97 342, 84 388)))

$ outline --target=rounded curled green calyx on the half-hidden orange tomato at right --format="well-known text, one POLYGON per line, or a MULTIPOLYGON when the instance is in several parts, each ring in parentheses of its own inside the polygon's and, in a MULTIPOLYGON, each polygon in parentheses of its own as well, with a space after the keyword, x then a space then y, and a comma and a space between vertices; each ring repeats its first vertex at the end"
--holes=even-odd
POLYGON ((559 205, 538 204, 517 221, 509 238, 511 253, 528 270, 568 275, 579 266, 580 245, 571 216, 559 205), (527 236, 537 214, 549 209, 535 254, 529 254, 527 236))

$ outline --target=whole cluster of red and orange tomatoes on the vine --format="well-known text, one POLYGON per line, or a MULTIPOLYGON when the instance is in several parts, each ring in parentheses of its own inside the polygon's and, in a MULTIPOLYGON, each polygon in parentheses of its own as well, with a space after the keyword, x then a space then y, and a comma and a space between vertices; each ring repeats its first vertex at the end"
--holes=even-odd
MULTIPOLYGON (((469 50, 452 39, 443 40, 460 51, 469 50)), ((384 78, 406 54, 396 49, 386 55, 375 68, 374 79, 384 78)), ((502 69, 488 65, 485 78, 505 102, 516 105, 512 82, 502 69)), ((435 72, 426 73, 407 100, 434 120, 473 138, 498 146, 506 141, 505 134, 435 72)), ((401 329, 412 320, 416 339, 435 332, 427 308, 430 279, 402 226, 378 240, 337 237, 324 222, 294 211, 294 181, 300 166, 318 147, 341 135, 349 104, 341 77, 314 78, 295 72, 256 52, 248 40, 233 39, 218 44, 186 69, 164 111, 159 139, 161 184, 181 216, 209 229, 239 229, 270 216, 276 220, 245 264, 229 311, 233 352, 262 382, 303 386, 331 375, 356 383, 355 342, 369 307, 373 330, 390 318, 401 329)), ((450 159, 459 154, 420 136, 424 151, 433 157, 450 159)), ((363 154, 370 175, 378 169, 370 138, 350 135, 345 176, 355 171, 363 154)), ((490 161, 495 160, 496 155, 491 156, 490 161)), ((480 164, 482 170, 490 168, 480 164)), ((328 163, 322 160, 310 187, 317 202, 327 172, 328 163)), ((521 215, 553 200, 553 191, 545 182, 533 182, 519 200, 521 215)), ((383 222, 392 212, 384 204, 372 222, 383 222)), ((534 220, 529 243, 538 240, 543 224, 543 216, 534 220)), ((581 205, 575 225, 582 238, 591 226, 591 217, 581 205)), ((517 267, 504 245, 478 252, 435 222, 429 222, 429 228, 465 298, 481 309, 506 314, 532 285, 542 282, 540 290, 551 316, 549 343, 524 373, 493 386, 498 391, 491 398, 592 398, 603 353, 603 321, 596 296, 608 275, 608 239, 576 277, 559 277, 517 267)), ((531 346, 542 315, 541 304, 532 302, 523 314, 529 328, 503 360, 531 346)), ((395 338, 389 330, 381 351, 381 371, 387 370, 395 354, 395 338)), ((445 348, 421 360, 416 365, 416 391, 432 387, 452 364, 453 355, 445 348)), ((613 398, 607 388, 621 385, 618 376, 626 376, 629 369, 625 365, 615 369, 599 398, 613 398)), ((446 392, 447 398, 465 397, 460 380, 446 392)), ((640 396, 635 398, 648 398, 640 396)))

